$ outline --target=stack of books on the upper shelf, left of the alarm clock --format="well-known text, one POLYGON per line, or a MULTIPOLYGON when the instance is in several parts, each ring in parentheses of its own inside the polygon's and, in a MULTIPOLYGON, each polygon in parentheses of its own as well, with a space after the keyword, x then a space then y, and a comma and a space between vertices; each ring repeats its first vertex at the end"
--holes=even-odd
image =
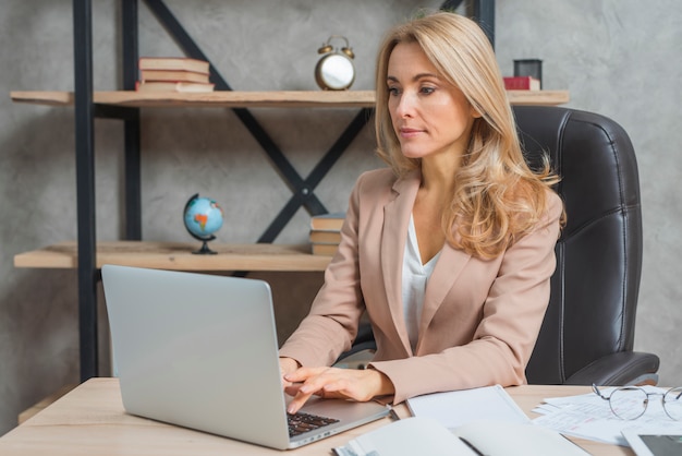
POLYGON ((187 57, 141 57, 138 92, 212 92, 209 63, 187 57))

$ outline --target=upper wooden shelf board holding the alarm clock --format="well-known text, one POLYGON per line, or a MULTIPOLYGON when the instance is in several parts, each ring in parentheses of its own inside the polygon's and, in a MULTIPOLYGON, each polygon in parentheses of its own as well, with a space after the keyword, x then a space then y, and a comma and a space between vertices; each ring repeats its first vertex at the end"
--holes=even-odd
MULTIPOLYGON (((508 91, 512 105, 562 105, 568 91, 508 91)), ((15 103, 73 106, 72 92, 11 92, 15 103)), ((206 94, 148 93, 134 91, 95 92, 100 105, 136 108, 224 107, 224 108, 372 108, 374 91, 284 91, 231 92, 206 94)))

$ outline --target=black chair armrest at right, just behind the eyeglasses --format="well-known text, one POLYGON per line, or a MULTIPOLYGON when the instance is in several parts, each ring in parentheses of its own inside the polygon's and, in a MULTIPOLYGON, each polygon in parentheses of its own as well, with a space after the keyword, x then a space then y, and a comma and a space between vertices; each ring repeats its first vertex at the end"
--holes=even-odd
POLYGON ((632 385, 658 383, 656 355, 637 351, 619 351, 599 358, 567 379, 565 385, 632 385))

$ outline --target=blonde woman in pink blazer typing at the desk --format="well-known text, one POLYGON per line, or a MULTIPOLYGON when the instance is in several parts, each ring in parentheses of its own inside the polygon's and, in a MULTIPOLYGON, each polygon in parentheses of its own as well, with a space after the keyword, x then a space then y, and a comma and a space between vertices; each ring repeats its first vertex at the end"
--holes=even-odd
POLYGON ((436 13, 388 34, 377 62, 378 154, 309 315, 280 350, 295 412, 312 395, 395 404, 525 383, 556 267, 556 176, 526 166, 489 41, 436 13), (366 370, 329 368, 367 311, 366 370))

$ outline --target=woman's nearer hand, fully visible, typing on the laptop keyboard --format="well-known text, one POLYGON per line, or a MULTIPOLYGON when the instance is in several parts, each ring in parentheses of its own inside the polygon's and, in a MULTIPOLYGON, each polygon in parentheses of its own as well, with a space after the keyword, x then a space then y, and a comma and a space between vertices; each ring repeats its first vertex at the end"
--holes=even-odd
POLYGON ((287 408, 290 413, 299 411, 313 395, 367 401, 394 393, 389 377, 374 369, 301 368, 284 379, 292 383, 284 391, 294 396, 287 408))

